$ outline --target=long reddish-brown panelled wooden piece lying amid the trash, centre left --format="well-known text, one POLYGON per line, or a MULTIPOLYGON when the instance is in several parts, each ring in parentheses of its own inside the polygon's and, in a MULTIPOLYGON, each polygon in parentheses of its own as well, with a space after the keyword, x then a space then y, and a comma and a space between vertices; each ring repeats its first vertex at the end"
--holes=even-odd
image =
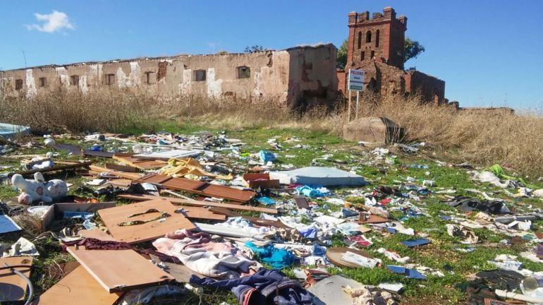
POLYGON ((137 182, 149 182, 157 184, 165 189, 174 189, 177 191, 188 191, 190 193, 196 193, 202 196, 225 198, 231 201, 247 202, 251 198, 256 196, 254 191, 243 191, 240 189, 233 189, 228 186, 218 186, 214 184, 208 184, 202 181, 194 181, 183 178, 171 178, 167 181, 159 181, 161 178, 166 179, 168 176, 164 175, 149 175, 136 180, 137 182))

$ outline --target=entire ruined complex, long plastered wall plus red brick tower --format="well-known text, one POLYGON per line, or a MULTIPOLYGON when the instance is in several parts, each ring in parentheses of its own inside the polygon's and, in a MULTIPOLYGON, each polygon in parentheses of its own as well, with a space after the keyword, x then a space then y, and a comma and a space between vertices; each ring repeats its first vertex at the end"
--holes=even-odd
MULTIPOLYGON (((348 13, 348 68, 366 72, 365 90, 422 93, 446 103, 445 82, 403 70, 407 18, 348 13)), ((333 104, 346 92, 346 72, 336 71, 333 44, 245 54, 178 55, 0 71, 0 93, 33 97, 50 90, 119 88, 157 97, 210 97, 280 102, 288 107, 333 104), (7 90, 6 90, 7 89, 7 90)))

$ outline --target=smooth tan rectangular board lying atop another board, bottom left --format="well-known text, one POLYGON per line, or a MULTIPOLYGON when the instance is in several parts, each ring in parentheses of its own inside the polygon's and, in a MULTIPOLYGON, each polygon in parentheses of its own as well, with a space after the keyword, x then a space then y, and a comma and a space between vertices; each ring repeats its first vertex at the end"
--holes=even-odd
POLYGON ((87 250, 85 246, 69 246, 66 250, 109 293, 174 280, 133 250, 87 250))

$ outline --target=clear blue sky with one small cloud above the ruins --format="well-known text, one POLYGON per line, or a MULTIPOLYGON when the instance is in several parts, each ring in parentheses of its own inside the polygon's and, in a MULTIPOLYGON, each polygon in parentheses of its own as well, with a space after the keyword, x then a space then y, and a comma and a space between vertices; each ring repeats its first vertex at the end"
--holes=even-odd
POLYGON ((349 11, 385 6, 407 16, 406 35, 426 47, 406 67, 446 80, 449 100, 543 108, 540 0, 2 1, 0 69, 24 67, 24 57, 38 66, 243 52, 252 44, 339 46, 349 11))

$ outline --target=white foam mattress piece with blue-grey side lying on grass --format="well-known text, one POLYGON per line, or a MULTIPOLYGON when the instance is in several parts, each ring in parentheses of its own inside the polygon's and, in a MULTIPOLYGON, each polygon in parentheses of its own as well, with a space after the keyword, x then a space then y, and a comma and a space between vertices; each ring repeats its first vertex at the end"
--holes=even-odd
POLYGON ((364 177, 335 167, 303 167, 291 171, 269 172, 270 179, 279 179, 281 184, 304 184, 309 186, 363 186, 364 177))

